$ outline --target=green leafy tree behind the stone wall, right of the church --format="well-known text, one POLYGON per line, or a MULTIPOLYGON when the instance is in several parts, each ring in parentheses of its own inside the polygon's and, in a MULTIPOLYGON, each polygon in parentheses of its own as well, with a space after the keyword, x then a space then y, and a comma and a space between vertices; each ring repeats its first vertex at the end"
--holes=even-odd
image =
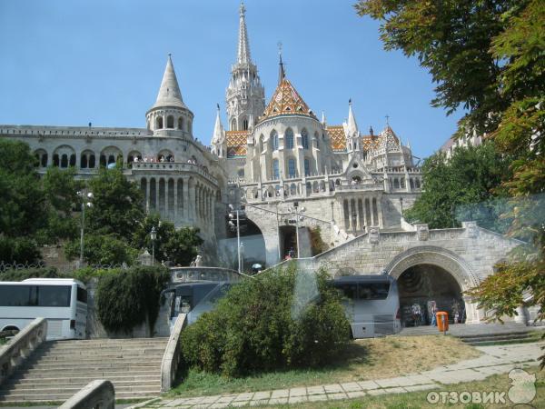
POLYGON ((461 147, 450 160, 437 153, 422 166, 423 192, 404 214, 411 223, 427 223, 431 228, 458 227, 464 220, 504 233, 508 220, 500 220, 505 199, 494 190, 509 174, 509 158, 488 142, 477 147, 461 147))

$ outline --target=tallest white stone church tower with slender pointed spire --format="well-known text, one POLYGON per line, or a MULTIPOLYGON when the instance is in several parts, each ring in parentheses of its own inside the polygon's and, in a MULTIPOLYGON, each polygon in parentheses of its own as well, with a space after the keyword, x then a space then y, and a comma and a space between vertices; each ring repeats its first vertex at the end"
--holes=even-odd
POLYGON ((237 59, 231 68, 231 81, 225 92, 230 131, 253 128, 265 109, 265 90, 250 56, 245 11, 241 3, 237 59))

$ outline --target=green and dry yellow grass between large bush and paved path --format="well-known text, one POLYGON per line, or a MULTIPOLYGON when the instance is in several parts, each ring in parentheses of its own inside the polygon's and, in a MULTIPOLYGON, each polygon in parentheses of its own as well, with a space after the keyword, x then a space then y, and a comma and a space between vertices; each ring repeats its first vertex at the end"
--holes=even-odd
POLYGON ((166 395, 230 394, 390 378, 453 364, 480 354, 472 346, 450 336, 372 338, 354 341, 335 363, 320 369, 254 374, 235 379, 190 370, 183 374, 183 382, 166 395))

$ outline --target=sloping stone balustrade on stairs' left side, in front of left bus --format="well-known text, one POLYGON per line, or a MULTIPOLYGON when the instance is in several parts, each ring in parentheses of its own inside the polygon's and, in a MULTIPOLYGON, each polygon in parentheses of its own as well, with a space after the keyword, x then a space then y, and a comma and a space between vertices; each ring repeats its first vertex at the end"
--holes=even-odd
POLYGON ((36 318, 0 349, 0 384, 45 341, 47 320, 36 318))

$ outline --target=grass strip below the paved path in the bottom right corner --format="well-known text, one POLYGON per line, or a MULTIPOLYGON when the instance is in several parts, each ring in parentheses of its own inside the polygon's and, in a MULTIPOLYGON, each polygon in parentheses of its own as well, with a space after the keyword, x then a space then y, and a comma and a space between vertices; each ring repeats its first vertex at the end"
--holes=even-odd
MULTIPOLYGON (((530 374, 536 374, 536 389, 537 394, 531 405, 520 404, 515 407, 545 407, 545 371, 540 371, 537 366, 527 369, 530 374)), ((505 404, 430 404, 428 403, 426 396, 430 391, 426 392, 411 392, 407 394, 382 394, 379 396, 364 396, 358 399, 347 399, 343 401, 334 402, 311 402, 311 403, 299 403, 297 409, 420 409, 420 408, 437 408, 437 407, 449 407, 449 408, 463 408, 463 409, 484 409, 499 408, 499 407, 513 407, 510 402, 507 392, 510 388, 510 379, 508 374, 493 375, 486 378, 484 381, 471 382, 465 384, 453 384, 444 385, 441 391, 456 391, 456 392, 505 392, 505 404)), ((440 392, 437 390, 435 392, 440 392)), ((293 408, 294 405, 274 405, 274 406, 260 406, 262 408, 293 408)))

